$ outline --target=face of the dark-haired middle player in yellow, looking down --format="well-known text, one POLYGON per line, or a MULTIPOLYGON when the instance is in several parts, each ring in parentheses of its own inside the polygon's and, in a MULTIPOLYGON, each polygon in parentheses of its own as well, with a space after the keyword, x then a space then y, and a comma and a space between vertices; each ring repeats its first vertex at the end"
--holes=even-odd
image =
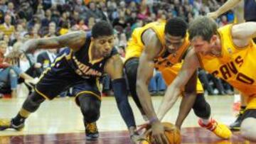
POLYGON ((174 53, 181 47, 183 44, 184 38, 181 36, 173 36, 169 35, 168 33, 165 34, 165 41, 166 41, 166 49, 169 53, 174 53))

